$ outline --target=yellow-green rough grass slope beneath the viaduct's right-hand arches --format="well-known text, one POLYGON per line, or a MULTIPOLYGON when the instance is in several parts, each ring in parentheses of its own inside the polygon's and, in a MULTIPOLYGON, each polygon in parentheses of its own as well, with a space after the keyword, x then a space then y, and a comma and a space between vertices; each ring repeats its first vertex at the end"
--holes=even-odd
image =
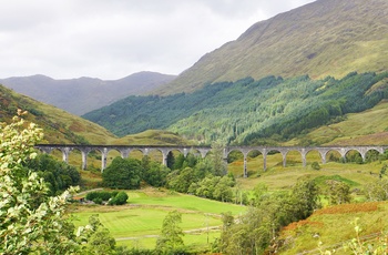
MULTIPOLYGON (((248 177, 239 177, 238 182, 244 190, 251 190, 258 183, 265 183, 269 190, 276 191, 289 188, 299 177, 308 176, 315 178, 318 176, 340 175, 361 186, 367 182, 375 181, 385 164, 388 164, 388 161, 376 161, 368 164, 343 164, 336 162, 321 164, 318 153, 312 152, 307 155, 307 165, 304 167, 300 154, 292 152, 287 155, 286 167, 283 167, 283 157, 278 153, 267 157, 267 170, 264 171, 263 157, 258 155, 257 157, 248 159, 248 177), (313 162, 319 162, 321 169, 319 171, 313 170, 313 162)), ((235 176, 242 176, 244 172, 243 161, 236 161, 229 164, 228 171, 234 173, 235 176)))

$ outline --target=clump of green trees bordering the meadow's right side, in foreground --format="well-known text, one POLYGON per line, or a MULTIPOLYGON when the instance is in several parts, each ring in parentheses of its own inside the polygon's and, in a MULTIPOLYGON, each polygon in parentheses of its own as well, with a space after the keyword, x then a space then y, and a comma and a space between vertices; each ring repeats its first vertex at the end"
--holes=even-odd
MULTIPOLYGON (((236 221, 223 216, 218 247, 225 254, 263 254, 276 241, 283 226, 308 217, 318 207, 314 181, 299 180, 292 192, 265 194, 266 186, 257 185, 254 205, 236 221)), ((269 251, 268 254, 275 251, 269 251)))

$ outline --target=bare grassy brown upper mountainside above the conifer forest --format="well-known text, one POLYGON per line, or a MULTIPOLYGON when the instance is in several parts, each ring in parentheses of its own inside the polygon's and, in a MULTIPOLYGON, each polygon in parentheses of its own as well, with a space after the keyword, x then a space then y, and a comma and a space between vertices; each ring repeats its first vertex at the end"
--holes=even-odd
POLYGON ((387 31, 387 0, 317 0, 253 24, 153 93, 193 92, 246 76, 381 72, 388 70, 387 31))

